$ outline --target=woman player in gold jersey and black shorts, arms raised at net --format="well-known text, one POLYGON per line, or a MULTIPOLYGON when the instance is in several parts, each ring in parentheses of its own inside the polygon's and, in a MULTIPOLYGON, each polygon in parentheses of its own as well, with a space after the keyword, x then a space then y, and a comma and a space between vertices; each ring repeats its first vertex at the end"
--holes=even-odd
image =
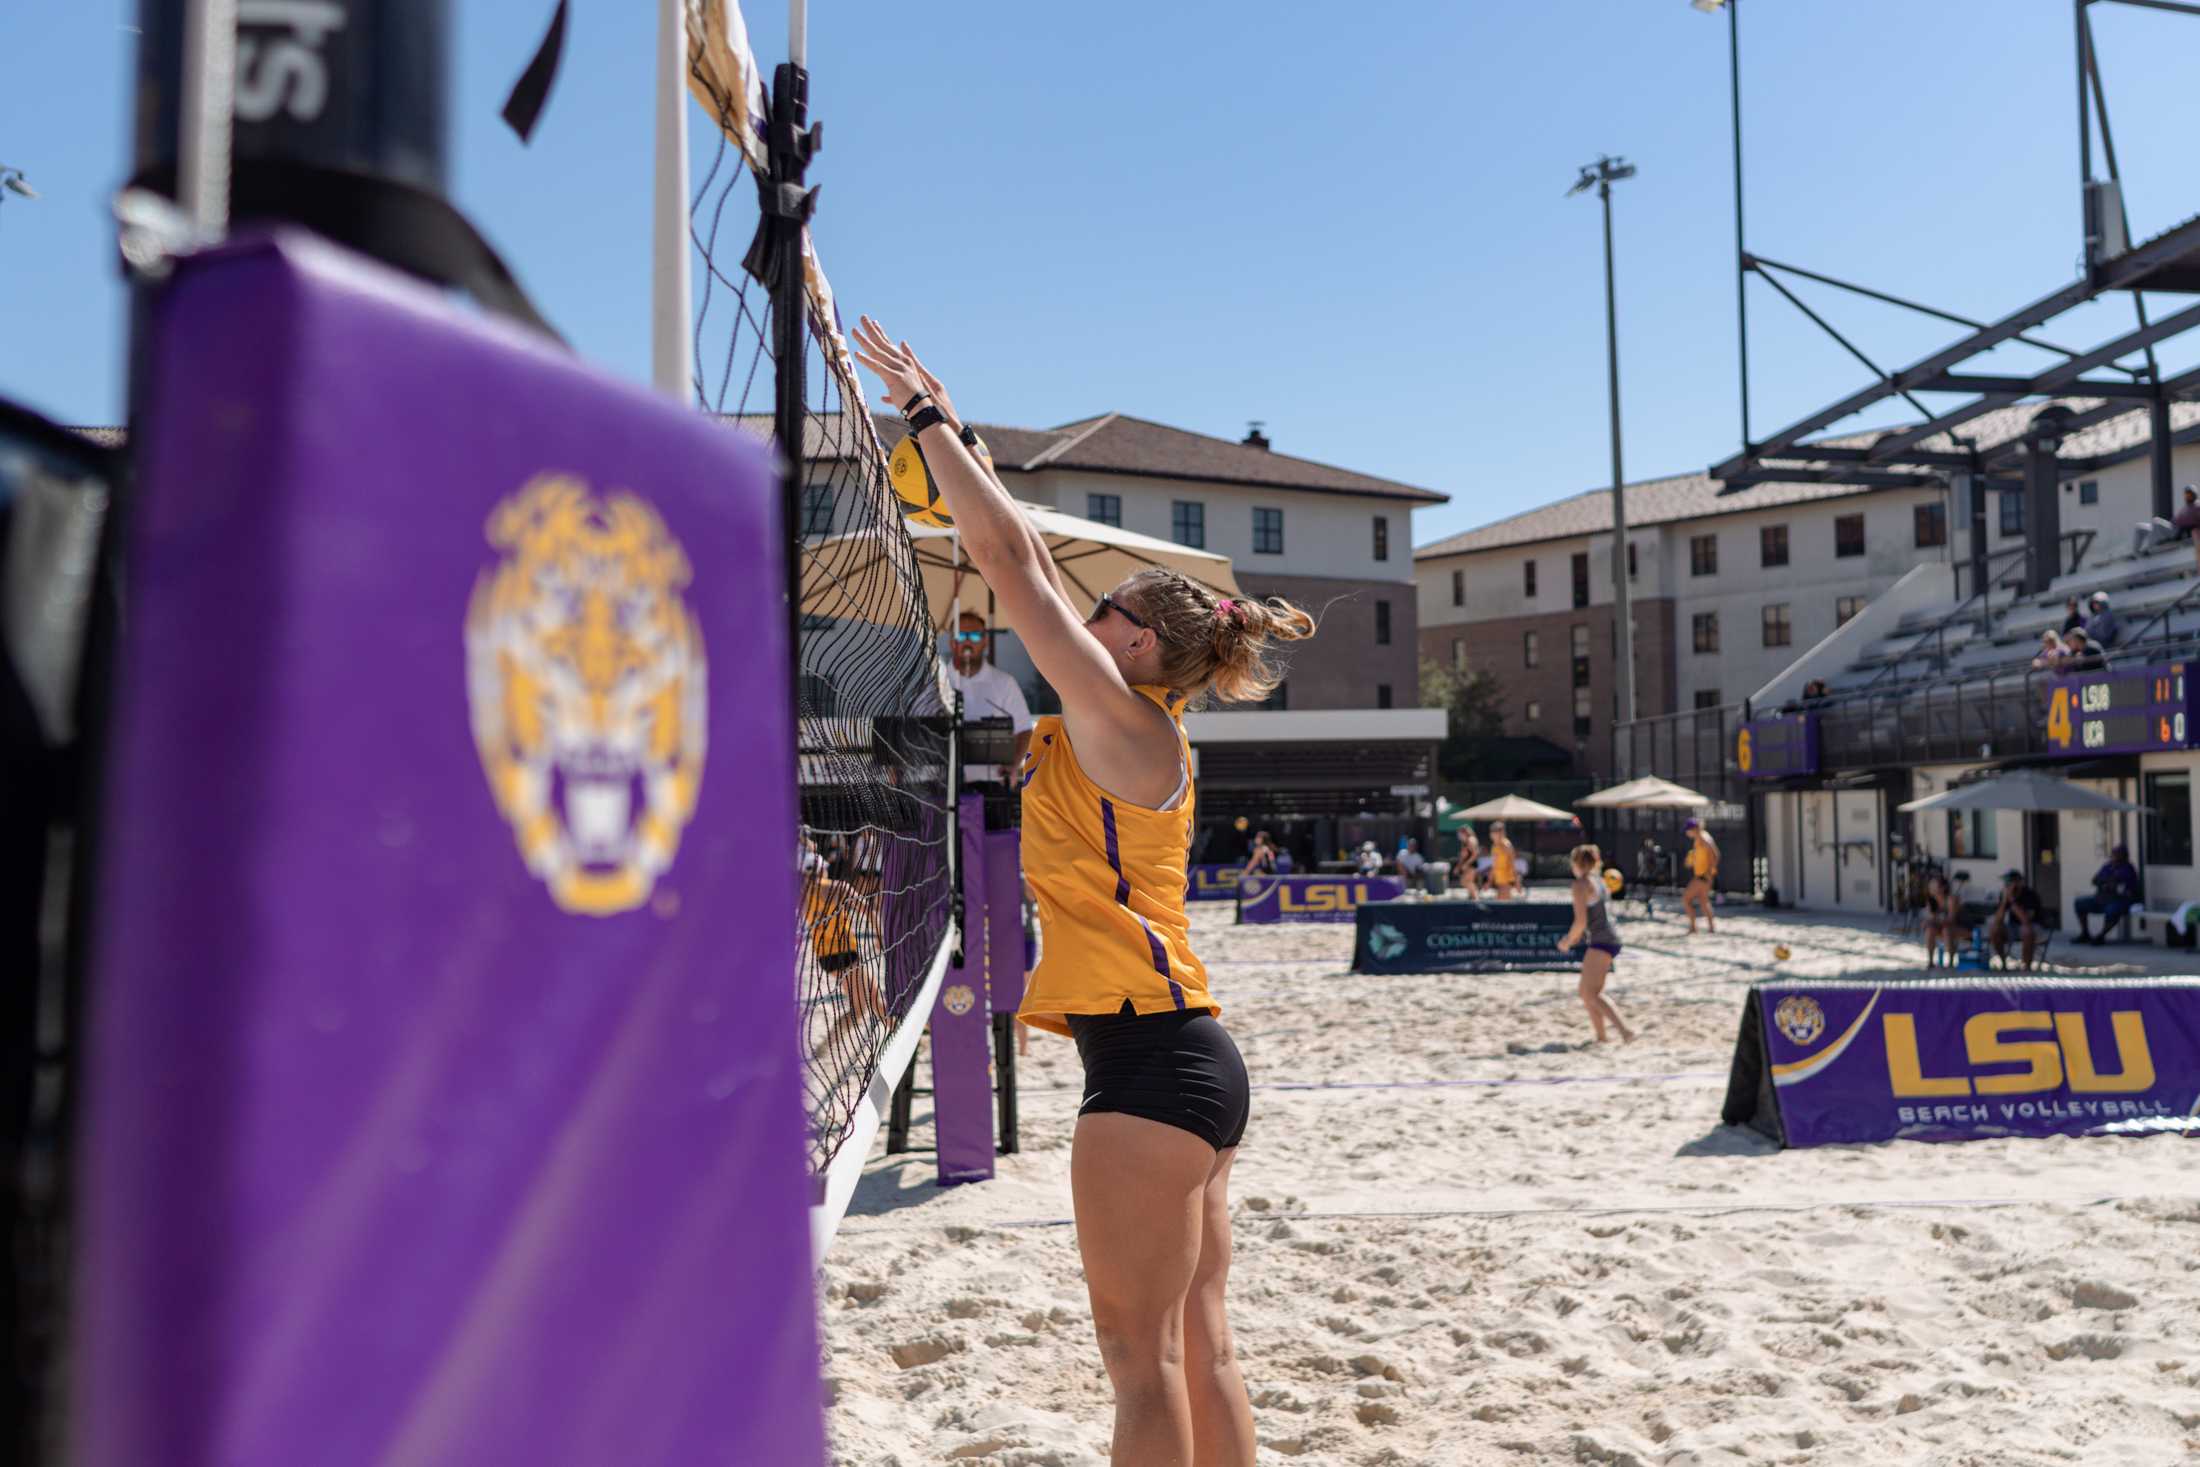
POLYGON ((1023 867, 1045 955, 1016 1014, 1069 1034, 1085 1104, 1069 1152, 1078 1251, 1115 1383, 1115 1467, 1252 1467, 1223 1309, 1230 1163, 1250 1106, 1184 915, 1192 779, 1184 708, 1265 697, 1267 647, 1313 633, 1280 600, 1131 576, 1085 611, 1038 532, 959 438, 939 380, 865 317, 856 356, 909 418, 964 552, 1063 699, 1038 719, 1023 867))

